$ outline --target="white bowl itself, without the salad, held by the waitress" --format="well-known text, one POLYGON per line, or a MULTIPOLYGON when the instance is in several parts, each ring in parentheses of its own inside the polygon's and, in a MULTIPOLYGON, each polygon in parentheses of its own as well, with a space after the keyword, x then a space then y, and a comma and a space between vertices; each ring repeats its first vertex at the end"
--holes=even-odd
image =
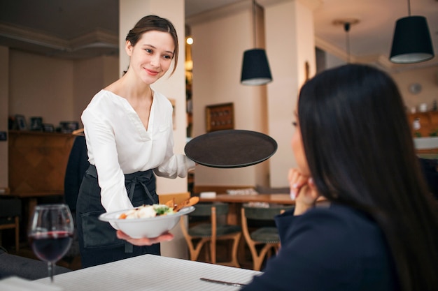
POLYGON ((165 232, 168 232, 174 228, 175 225, 178 224, 181 216, 190 214, 190 212, 194 210, 195 207, 190 206, 181 209, 180 211, 176 212, 176 214, 155 216, 151 218, 119 219, 118 217, 120 214, 127 211, 120 210, 101 214, 99 219, 101 221, 113 223, 113 225, 122 230, 122 232, 125 232, 125 234, 128 234, 129 237, 134 239, 140 239, 142 237, 153 238, 159 237, 161 234, 164 234, 165 232))

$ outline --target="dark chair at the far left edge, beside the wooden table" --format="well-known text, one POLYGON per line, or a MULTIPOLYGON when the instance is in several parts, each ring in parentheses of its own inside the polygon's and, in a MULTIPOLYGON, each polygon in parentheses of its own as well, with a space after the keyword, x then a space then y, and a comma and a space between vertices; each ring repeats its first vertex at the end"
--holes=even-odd
POLYGON ((0 200, 0 230, 15 228, 15 253, 20 250, 20 217, 21 200, 15 198, 0 200))

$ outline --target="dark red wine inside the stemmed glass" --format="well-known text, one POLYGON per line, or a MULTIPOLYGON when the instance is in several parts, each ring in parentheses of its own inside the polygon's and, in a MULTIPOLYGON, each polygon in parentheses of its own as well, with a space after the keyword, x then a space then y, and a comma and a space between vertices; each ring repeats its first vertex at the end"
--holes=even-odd
POLYGON ((69 251, 73 234, 66 231, 31 234, 29 241, 35 255, 45 262, 57 262, 69 251))

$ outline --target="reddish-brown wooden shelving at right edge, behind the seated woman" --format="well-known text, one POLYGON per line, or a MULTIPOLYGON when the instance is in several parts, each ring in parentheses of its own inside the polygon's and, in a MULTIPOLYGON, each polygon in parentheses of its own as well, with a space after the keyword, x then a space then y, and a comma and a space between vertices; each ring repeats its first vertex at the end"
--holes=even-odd
POLYGON ((438 111, 408 114, 413 137, 438 136, 438 111))

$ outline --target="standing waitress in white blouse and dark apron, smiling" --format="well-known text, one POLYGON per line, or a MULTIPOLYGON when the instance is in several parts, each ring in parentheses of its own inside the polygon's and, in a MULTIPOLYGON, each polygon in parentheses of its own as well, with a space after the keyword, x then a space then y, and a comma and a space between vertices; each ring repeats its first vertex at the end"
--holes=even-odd
POLYGON ((158 203, 155 175, 185 177, 195 162, 173 152, 172 105, 150 88, 171 63, 178 63, 178 36, 162 17, 143 17, 129 31, 129 67, 119 80, 99 91, 85 108, 90 167, 76 206, 82 267, 146 253, 160 255, 160 244, 133 246, 116 237, 99 215, 158 203))

